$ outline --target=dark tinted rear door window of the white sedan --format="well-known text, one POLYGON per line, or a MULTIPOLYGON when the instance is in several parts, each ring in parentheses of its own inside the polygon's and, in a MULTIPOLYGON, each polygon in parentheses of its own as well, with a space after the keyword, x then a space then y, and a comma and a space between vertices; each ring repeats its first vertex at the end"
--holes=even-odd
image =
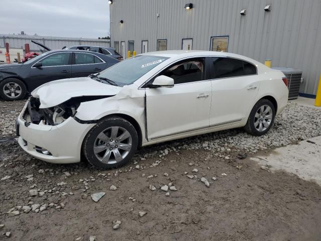
POLYGON ((212 60, 212 79, 256 74, 254 65, 239 59, 215 57, 212 60))

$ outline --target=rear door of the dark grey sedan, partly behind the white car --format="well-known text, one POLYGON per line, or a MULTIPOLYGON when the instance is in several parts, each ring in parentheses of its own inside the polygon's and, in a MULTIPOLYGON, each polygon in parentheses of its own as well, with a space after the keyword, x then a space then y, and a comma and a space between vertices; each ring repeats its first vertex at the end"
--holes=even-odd
POLYGON ((90 74, 99 73, 104 70, 107 63, 94 54, 74 52, 71 66, 71 76, 86 77, 90 74))

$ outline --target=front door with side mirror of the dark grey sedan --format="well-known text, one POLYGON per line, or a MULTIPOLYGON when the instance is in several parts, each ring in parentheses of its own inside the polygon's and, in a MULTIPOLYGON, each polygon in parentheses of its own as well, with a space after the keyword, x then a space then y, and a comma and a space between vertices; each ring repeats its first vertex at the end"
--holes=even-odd
POLYGON ((38 61, 42 63, 42 67, 36 68, 35 64, 31 66, 27 81, 33 82, 34 86, 40 86, 53 80, 70 78, 71 58, 70 52, 54 53, 44 57, 38 61))

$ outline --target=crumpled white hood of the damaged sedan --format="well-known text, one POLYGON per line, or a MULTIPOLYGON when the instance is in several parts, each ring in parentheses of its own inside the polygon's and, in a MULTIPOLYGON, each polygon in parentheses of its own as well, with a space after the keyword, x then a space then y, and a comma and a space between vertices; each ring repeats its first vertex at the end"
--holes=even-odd
POLYGON ((48 82, 36 88, 31 94, 40 99, 40 108, 50 108, 72 97, 115 95, 121 88, 89 77, 80 77, 48 82))

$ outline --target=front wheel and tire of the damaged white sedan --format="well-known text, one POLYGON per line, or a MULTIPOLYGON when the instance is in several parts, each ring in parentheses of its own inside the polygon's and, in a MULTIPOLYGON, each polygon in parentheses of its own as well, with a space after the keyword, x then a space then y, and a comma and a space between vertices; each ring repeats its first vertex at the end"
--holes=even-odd
POLYGON ((108 117, 94 126, 84 140, 83 153, 99 169, 125 165, 136 152, 138 135, 126 119, 108 117))

